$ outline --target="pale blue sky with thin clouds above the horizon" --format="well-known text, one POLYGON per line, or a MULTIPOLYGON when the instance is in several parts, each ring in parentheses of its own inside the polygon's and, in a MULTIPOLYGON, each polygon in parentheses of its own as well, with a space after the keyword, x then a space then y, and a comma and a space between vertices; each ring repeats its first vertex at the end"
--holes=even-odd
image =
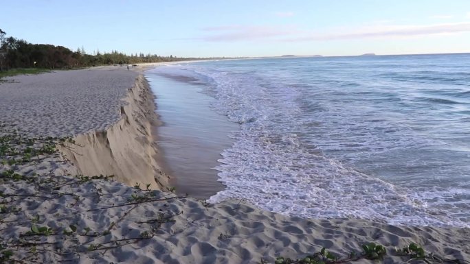
POLYGON ((15 0, 0 7, 7 36, 90 54, 470 52, 470 0, 15 0))

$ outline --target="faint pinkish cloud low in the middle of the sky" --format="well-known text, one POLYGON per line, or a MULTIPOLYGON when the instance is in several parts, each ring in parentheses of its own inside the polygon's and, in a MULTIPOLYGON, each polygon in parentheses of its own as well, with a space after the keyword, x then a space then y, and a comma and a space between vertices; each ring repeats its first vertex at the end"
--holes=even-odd
POLYGON ((259 25, 225 25, 221 27, 205 27, 205 32, 211 32, 202 39, 206 41, 234 41, 271 39, 280 36, 289 36, 298 32, 294 27, 272 27, 259 25))

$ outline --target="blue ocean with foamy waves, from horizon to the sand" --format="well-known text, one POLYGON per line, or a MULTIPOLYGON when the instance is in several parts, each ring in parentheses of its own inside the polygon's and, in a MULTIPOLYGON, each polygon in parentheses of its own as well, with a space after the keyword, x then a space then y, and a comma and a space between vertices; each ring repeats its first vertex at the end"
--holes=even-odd
MULTIPOLYGON (((159 130, 167 130, 160 143, 202 133, 192 152, 211 159, 196 163, 214 176, 200 185, 221 183, 209 202, 470 226, 470 54, 219 60, 157 67, 146 77, 159 130), (159 104, 167 95, 171 104, 159 104), (179 106, 192 117, 175 114, 179 106), (166 123, 171 115, 201 128, 166 123)), ((186 190, 200 174, 188 173, 186 190)))

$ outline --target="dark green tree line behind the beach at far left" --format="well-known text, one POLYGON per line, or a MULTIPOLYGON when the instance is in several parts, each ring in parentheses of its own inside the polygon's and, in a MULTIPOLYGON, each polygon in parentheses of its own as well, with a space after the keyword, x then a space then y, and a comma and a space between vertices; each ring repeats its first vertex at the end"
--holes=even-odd
POLYGON ((7 37, 0 29, 0 71, 15 68, 71 69, 104 64, 135 64, 144 62, 172 62, 194 60, 195 58, 177 58, 175 56, 157 56, 156 54, 135 53, 126 55, 118 51, 93 55, 85 49, 71 51, 67 47, 48 44, 32 44, 26 40, 7 37))

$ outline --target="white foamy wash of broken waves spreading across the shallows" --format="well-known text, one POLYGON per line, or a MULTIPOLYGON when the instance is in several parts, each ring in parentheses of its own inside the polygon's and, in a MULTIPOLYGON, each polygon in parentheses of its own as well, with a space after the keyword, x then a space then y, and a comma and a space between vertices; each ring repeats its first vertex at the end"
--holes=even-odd
MULTIPOLYGON (((343 102, 333 104, 337 109, 331 109, 331 104, 320 104, 320 110, 312 114, 303 109, 306 95, 302 90, 311 87, 272 82, 240 69, 224 72, 220 67, 215 70, 189 65, 179 70, 192 71, 190 75, 199 78, 205 76, 205 81, 212 84, 208 93, 216 98, 214 109, 240 123, 240 131, 230 134, 235 139, 234 145, 223 151, 221 165, 215 168, 227 188, 210 197, 210 202, 236 197, 269 211, 300 217, 358 217, 392 224, 470 226, 468 216, 454 217, 459 212, 457 206, 452 211, 429 200, 426 192, 415 193, 414 189, 368 176, 347 162, 368 154, 377 158, 390 149, 429 144, 425 137, 416 138, 414 130, 399 123, 401 120, 385 119, 366 106, 363 112, 370 112, 370 116, 364 118, 377 125, 369 127, 355 123, 356 119, 345 120, 340 108, 343 102), (337 115, 332 115, 335 111, 337 115), (312 131, 315 125, 320 127, 316 132, 312 131), (328 134, 322 126, 336 129, 328 134), (355 142, 334 134, 353 134, 355 142), (326 158, 324 152, 342 153, 340 158, 326 158)), ((419 163, 407 162, 410 166, 419 163)), ((468 190, 460 191, 468 201, 468 190)), ((440 195, 437 199, 440 202, 446 195, 455 197, 448 189, 434 195, 440 195)))

